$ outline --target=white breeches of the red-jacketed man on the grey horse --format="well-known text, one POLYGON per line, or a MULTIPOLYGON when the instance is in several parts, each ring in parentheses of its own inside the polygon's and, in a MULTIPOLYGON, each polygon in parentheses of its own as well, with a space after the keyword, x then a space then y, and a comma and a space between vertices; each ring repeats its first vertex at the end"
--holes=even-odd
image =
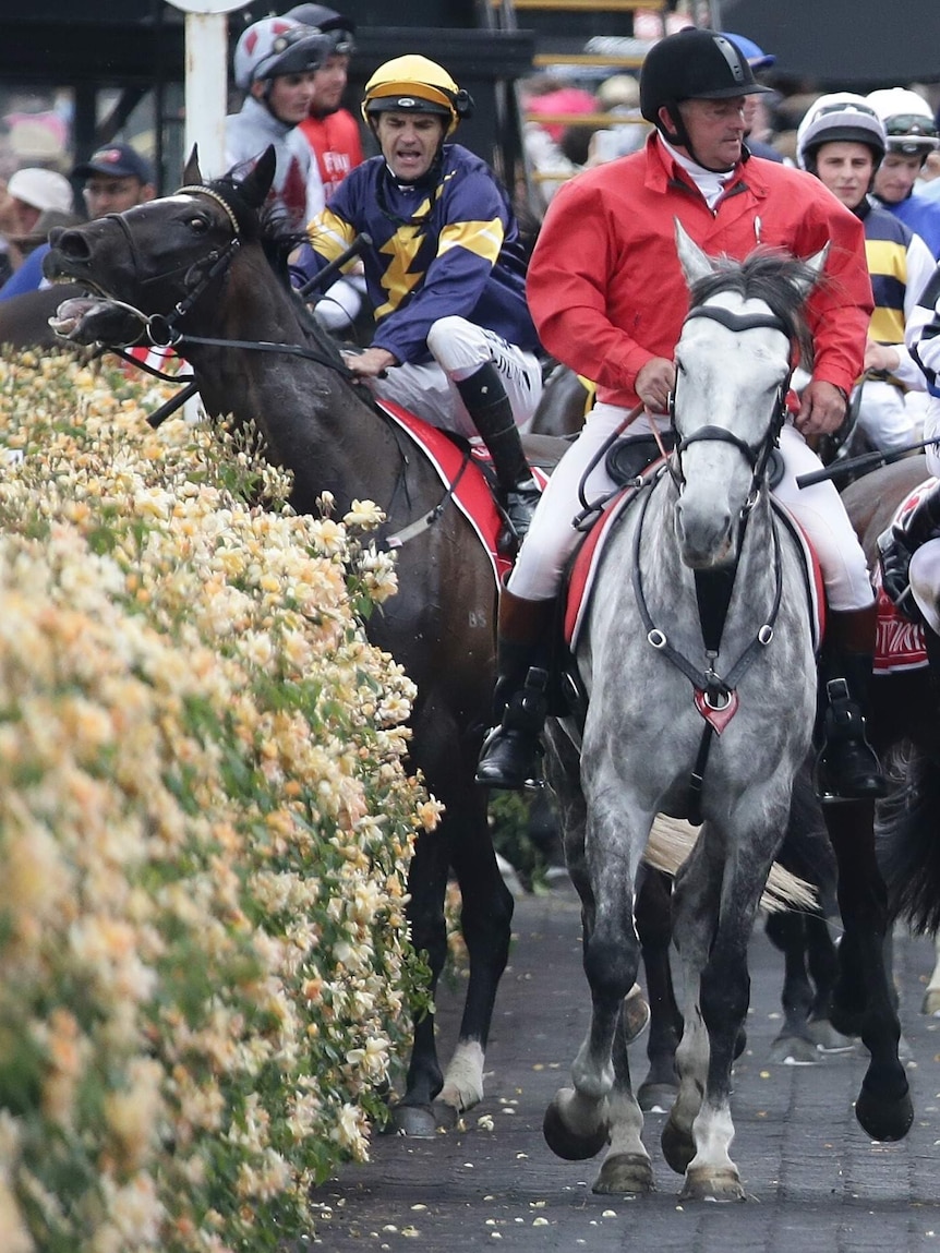
MULTIPOLYGON (((541 494, 509 578, 509 590, 516 596, 548 600, 558 593, 561 571, 580 538, 572 520, 583 507, 578 496, 582 477, 625 416, 627 410, 617 405, 595 405, 578 440, 561 457, 541 494)), ((640 415, 624 434, 648 435, 650 430, 649 419, 640 415)), ((780 450, 785 475, 775 495, 810 536, 822 569, 830 608, 835 611, 867 608, 874 600, 869 568, 838 492, 832 482, 815 484, 803 491, 796 486, 797 475, 818 470, 821 462, 802 435, 788 424, 781 431, 780 450)), ((590 502, 605 496, 613 486, 602 456, 588 476, 584 496, 590 502)))

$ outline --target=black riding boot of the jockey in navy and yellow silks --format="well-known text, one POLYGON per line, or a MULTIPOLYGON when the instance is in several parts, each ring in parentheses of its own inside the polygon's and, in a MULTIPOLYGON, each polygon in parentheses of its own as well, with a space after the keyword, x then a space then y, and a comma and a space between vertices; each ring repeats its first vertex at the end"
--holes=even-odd
POLYGON ((488 361, 469 378, 455 380, 454 386, 489 449, 509 526, 521 544, 541 494, 525 460, 503 380, 488 361))

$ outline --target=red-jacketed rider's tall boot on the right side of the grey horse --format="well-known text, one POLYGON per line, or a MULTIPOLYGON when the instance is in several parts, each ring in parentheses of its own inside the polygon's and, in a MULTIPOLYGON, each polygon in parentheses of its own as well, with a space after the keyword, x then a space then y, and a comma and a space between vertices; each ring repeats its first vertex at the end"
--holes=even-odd
POLYGON ((865 737, 875 653, 875 606, 830 613, 820 660, 822 747, 816 759, 820 799, 871 801, 887 787, 865 737))

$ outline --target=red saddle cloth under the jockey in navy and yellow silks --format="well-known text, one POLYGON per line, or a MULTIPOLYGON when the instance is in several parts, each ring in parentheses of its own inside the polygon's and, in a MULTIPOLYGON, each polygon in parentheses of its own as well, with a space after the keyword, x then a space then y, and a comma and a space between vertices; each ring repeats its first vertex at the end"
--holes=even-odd
MULTIPOLYGON (((503 575, 511 568, 511 561, 496 551, 496 543, 503 529, 503 519, 496 509, 486 476, 481 466, 491 465, 491 457, 481 445, 473 445, 470 464, 465 467, 464 450, 451 440, 445 431, 437 430, 430 422, 415 417, 395 401, 379 400, 389 417, 396 422, 411 439, 420 445, 427 460, 437 471, 446 487, 454 486, 454 504, 476 531, 480 544, 490 558, 493 576, 500 585, 503 575), (462 471, 462 472, 461 472, 462 471)), ((533 476, 544 490, 548 476, 533 467, 533 476)))

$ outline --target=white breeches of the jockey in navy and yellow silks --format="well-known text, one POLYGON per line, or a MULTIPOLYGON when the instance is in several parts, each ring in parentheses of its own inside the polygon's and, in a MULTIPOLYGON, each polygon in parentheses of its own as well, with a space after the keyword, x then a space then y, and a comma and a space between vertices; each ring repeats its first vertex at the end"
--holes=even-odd
POLYGON ((469 378, 490 361, 506 388, 515 425, 528 429, 541 396, 541 366, 534 353, 462 317, 439 318, 427 333, 427 348, 434 361, 426 366, 392 366, 386 378, 370 380, 375 393, 431 426, 474 439, 476 426, 451 380, 469 378))

